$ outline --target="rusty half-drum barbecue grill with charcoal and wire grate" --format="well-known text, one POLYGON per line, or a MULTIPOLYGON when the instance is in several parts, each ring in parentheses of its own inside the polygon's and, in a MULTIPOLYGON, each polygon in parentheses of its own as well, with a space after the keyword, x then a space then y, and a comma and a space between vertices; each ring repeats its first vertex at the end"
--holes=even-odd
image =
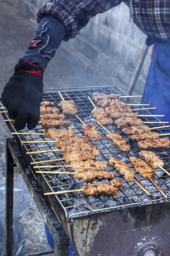
MULTIPOLYGON (((62 94, 65 100, 73 100, 77 106, 77 115, 87 124, 92 122, 96 124, 96 120, 91 116, 93 105, 88 99, 92 93, 117 93, 121 96, 126 96, 126 93, 115 86, 107 87, 86 87, 86 88, 62 88, 44 90, 44 99, 55 103, 61 101, 58 91, 62 94)), ((122 99, 126 103, 133 104, 137 102, 133 98, 122 99)), ((147 103, 147 102, 146 102, 147 103)), ((0 102, 3 107, 2 102, 0 102)), ((154 106, 151 106, 154 107, 154 106)), ((59 108, 59 107, 58 107, 59 108)), ((134 107, 136 108, 136 107, 134 107)), ((143 108, 142 106, 140 107, 143 108)), ((139 114, 150 114, 147 110, 137 111, 139 114)), ((158 114, 163 114, 159 113, 158 114)), ((7 113, 3 113, 4 119, 9 119, 7 113)), ((83 135, 79 126, 82 123, 76 116, 66 115, 66 119, 71 120, 71 125, 67 128, 74 129, 77 135, 83 135)), ((159 121, 155 116, 142 117, 143 121, 155 122, 159 121)), ((11 132, 16 132, 14 122, 6 122, 11 132)), ((156 124, 149 124, 150 127, 156 127, 156 124)), ((160 126, 160 124, 159 124, 160 126)), ((115 125, 105 126, 108 131, 120 132, 115 125)), ((98 127, 99 133, 107 134, 102 128, 98 127)), ((167 128, 166 128, 167 129, 167 128)), ((160 133, 165 131, 165 128, 157 130, 160 133)), ((44 151, 55 149, 55 144, 50 143, 51 139, 44 138, 38 135, 43 133, 41 125, 37 125, 34 130, 25 128, 24 133, 36 132, 37 135, 14 135, 17 145, 23 154, 24 159, 30 165, 32 172, 35 173, 31 162, 42 160, 52 160, 62 158, 60 151, 46 152, 40 154, 26 154, 31 151, 44 151), (22 144, 22 141, 44 141, 44 143, 28 143, 22 144)), ((120 133, 127 139, 127 136, 120 133)), ((95 160, 109 160, 109 157, 130 164, 129 157, 138 157, 139 149, 136 142, 129 141, 130 151, 120 151, 119 148, 111 145, 106 137, 101 140, 90 142, 100 151, 100 156, 95 160)), ((164 160, 164 169, 170 171, 170 148, 151 149, 161 159, 164 160)), ((64 161, 57 161, 53 165, 64 165, 64 161)), ((43 163, 40 164, 41 166, 43 163)), ((45 166, 51 163, 45 163, 45 166)), ((113 167, 109 166, 108 170, 113 167)), ((41 171, 53 171, 51 168, 44 168, 41 171)), ((68 168, 58 168, 57 171, 68 171, 68 168)), ((150 192, 148 196, 140 187, 133 181, 124 182, 123 187, 118 189, 118 195, 93 195, 87 196, 82 192, 73 192, 61 195, 49 195, 46 199, 51 204, 52 209, 56 213, 59 221, 62 223, 66 232, 70 236, 74 248, 79 256, 168 256, 170 255, 170 176, 163 171, 155 170, 156 177, 153 178, 156 184, 167 195, 165 199, 162 194, 148 179, 141 178, 135 174, 136 180, 150 192)), ((37 181, 42 189, 42 192, 56 192, 72 189, 81 189, 86 184, 84 180, 77 180, 73 175, 36 175, 37 181)), ((122 178, 118 172, 115 174, 116 180, 122 178)), ((102 181, 102 178, 97 178, 95 181, 102 181)), ((104 181, 105 182, 105 181, 104 181)))

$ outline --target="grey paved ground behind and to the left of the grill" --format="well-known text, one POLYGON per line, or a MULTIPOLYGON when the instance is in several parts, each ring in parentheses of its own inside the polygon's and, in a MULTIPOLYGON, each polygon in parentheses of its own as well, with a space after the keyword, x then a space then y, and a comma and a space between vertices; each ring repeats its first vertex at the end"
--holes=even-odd
MULTIPOLYGON (((14 72, 19 55, 27 49, 36 25, 21 16, 17 9, 3 0, 0 0, 0 7, 0 92, 2 92, 4 85, 14 72)), ((101 68, 91 60, 94 48, 91 49, 91 56, 85 57, 90 48, 86 48, 88 44, 85 43, 85 40, 81 41, 81 35, 74 42, 75 44, 72 41, 69 44, 63 42, 57 50, 55 58, 45 70, 45 88, 93 87, 94 85, 109 84, 116 84, 124 90, 127 88, 123 81, 120 82, 118 78, 114 77, 114 72, 108 72, 107 68, 101 68), (82 49, 85 49, 85 55, 82 54, 82 49)), ((104 54, 98 54, 95 57, 99 62, 105 60, 104 54)), ((2 116, 0 116, 0 130, 0 178, 2 178, 5 174, 5 139, 11 136, 2 116)), ((51 250, 45 238, 42 217, 33 200, 31 200, 21 222, 25 230, 26 245, 30 255, 51 250)))

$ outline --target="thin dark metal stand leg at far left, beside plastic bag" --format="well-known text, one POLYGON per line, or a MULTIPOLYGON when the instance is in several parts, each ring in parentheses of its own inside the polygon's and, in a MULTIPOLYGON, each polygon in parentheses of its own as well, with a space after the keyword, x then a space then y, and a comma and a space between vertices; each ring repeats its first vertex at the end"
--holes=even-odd
POLYGON ((12 256, 14 159, 6 143, 6 256, 12 256))

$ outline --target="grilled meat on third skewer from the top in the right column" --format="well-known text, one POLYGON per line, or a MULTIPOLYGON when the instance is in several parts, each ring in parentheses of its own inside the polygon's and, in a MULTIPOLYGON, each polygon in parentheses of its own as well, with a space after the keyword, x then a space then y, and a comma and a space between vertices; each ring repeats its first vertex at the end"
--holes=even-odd
POLYGON ((118 118, 120 113, 132 113, 132 109, 129 105, 113 105, 110 107, 105 108, 105 112, 112 116, 112 118, 118 118))

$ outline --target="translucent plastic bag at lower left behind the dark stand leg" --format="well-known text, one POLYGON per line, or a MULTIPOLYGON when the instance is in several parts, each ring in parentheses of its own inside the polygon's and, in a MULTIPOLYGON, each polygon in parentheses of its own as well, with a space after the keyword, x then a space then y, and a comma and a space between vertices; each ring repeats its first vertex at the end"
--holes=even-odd
MULTIPOLYGON (((5 256, 5 178, 0 180, 0 256, 5 256)), ((29 205, 31 194, 21 175, 14 176, 13 208, 13 256, 26 256, 26 243, 23 226, 19 221, 29 205)))

